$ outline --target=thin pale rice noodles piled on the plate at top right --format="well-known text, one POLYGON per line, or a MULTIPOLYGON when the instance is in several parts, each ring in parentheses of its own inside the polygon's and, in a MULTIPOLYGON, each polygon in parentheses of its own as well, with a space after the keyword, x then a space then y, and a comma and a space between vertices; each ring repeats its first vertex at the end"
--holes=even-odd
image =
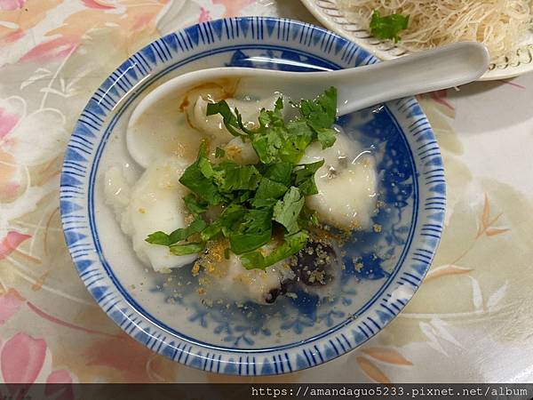
POLYGON ((348 18, 369 28, 374 10, 410 16, 400 45, 409 51, 475 40, 493 60, 515 52, 532 23, 530 0, 338 0, 348 18))

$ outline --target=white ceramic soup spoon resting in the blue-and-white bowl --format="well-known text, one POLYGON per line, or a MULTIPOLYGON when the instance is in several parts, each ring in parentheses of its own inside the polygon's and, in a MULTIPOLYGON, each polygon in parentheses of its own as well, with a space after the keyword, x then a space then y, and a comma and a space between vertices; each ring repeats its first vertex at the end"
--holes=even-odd
POLYGON ((489 52, 484 44, 462 42, 417 52, 399 59, 357 68, 327 72, 285 72, 261 68, 209 68, 177 76, 158 86, 139 102, 126 134, 133 159, 147 167, 147 138, 131 129, 139 118, 156 104, 176 98, 177 93, 221 79, 238 80, 239 87, 254 94, 282 92, 291 100, 313 99, 330 86, 338 90, 338 116, 378 103, 424 92, 467 84, 489 67, 489 52))

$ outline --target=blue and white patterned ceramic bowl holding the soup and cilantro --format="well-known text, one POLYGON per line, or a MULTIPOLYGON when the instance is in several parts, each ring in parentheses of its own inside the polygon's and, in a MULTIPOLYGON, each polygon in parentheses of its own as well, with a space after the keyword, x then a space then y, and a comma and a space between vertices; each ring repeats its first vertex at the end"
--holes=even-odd
MULTIPOLYGON (((338 295, 298 293, 274 306, 205 307, 195 279, 173 297, 171 275, 143 266, 104 202, 103 173, 134 163, 125 126, 157 85, 188 71, 222 66, 314 71, 378 62, 322 28, 291 20, 214 20, 164 36, 135 53, 91 97, 68 144, 61 175, 61 218, 84 284, 116 324, 148 348, 209 372, 294 372, 345 354, 378 333, 418 289, 439 243, 445 206, 442 158, 413 98, 338 121, 373 146, 381 200, 380 232, 346 244, 338 295)), ((357 95, 357 93, 354 93, 357 95)), ((133 173, 138 173, 133 171, 133 173)), ((379 229, 376 229, 377 231, 379 229)), ((184 276, 185 274, 185 276, 184 276)), ((128 355, 124 355, 127 357, 128 355)))

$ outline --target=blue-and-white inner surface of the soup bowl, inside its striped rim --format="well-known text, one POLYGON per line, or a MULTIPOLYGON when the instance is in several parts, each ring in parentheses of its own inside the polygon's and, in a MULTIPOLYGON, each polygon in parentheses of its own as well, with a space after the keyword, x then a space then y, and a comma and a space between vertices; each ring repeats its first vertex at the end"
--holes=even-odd
MULTIPOLYGON (((247 66, 290 70, 337 69, 334 62, 310 58, 297 49, 235 49, 206 55, 177 68, 164 78, 196 68, 247 66), (269 62, 253 62, 253 58, 269 62), (294 61, 302 66, 294 67, 294 61)), ((162 76, 163 78, 163 76, 162 76)), ((163 79, 161 79, 163 80, 163 79)), ((160 84, 156 81, 155 84, 160 84)), ((139 100, 146 92, 135 96, 139 100)), ((132 96, 133 97, 133 96, 132 96)), ((373 148, 378 157, 380 199, 385 203, 373 217, 379 232, 361 232, 345 244, 346 268, 337 279, 338 295, 319 301, 316 294, 297 292, 297 298, 279 298, 273 306, 252 303, 236 305, 231 301, 203 305, 196 292, 197 278, 191 268, 174 269, 170 275, 158 274, 143 265, 131 248, 131 239, 121 233, 103 196, 103 173, 115 164, 131 165, 139 174, 125 148, 125 127, 135 101, 116 111, 116 124, 102 151, 94 182, 95 232, 116 281, 131 297, 131 302, 167 326, 196 340, 216 346, 266 348, 306 340, 334 329, 358 315, 387 277, 399 266, 412 225, 415 167, 410 160, 402 130, 385 107, 345 116, 339 125, 373 148), (190 284, 189 284, 190 283, 190 284), (227 306, 230 306, 227 308, 227 306)))

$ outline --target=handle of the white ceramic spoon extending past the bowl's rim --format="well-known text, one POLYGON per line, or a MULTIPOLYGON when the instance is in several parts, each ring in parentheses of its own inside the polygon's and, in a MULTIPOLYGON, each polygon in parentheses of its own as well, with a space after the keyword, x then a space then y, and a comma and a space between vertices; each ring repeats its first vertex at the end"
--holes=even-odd
POLYGON ((324 87, 336 86, 338 116, 342 116, 384 101, 467 84, 485 73, 489 60, 484 44, 462 42, 364 67, 300 74, 300 78, 314 86, 318 79, 324 87))

